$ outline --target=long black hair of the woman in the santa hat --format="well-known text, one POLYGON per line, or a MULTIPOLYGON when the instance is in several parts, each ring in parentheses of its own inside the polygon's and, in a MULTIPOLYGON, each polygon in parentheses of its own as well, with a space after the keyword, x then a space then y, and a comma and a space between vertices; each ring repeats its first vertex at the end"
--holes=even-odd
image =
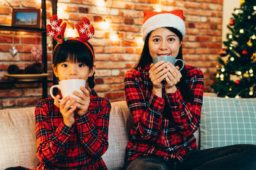
MULTIPOLYGON (((166 28, 171 30, 171 32, 175 33, 178 36, 179 40, 182 41, 182 34, 180 31, 178 31, 176 28, 172 28, 172 27, 166 27, 166 28)), ((142 50, 142 55, 141 55, 136 67, 145 67, 146 65, 151 64, 153 62, 152 57, 149 53, 149 37, 150 37, 151 33, 146 35, 144 47, 142 50)), ((179 48, 178 56, 176 57, 176 59, 183 60, 182 45, 179 48)), ((177 87, 181 91, 181 96, 184 99, 184 101, 189 101, 192 103, 194 96, 193 96, 193 92, 191 91, 190 86, 186 82, 186 68, 185 67, 183 67, 183 69, 181 69, 181 75, 182 75, 182 77, 181 77, 181 80, 178 82, 177 87)))

